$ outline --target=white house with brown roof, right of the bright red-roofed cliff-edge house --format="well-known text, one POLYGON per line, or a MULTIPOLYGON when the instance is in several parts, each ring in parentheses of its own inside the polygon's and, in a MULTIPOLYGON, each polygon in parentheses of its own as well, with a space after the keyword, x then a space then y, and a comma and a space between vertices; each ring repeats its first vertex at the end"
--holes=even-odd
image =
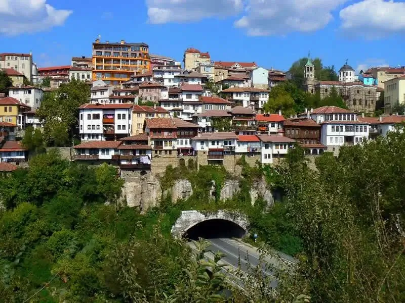
POLYGON ((277 135, 258 135, 260 139, 260 161, 262 164, 273 163, 274 158, 284 158, 288 149, 293 146, 294 139, 277 135))

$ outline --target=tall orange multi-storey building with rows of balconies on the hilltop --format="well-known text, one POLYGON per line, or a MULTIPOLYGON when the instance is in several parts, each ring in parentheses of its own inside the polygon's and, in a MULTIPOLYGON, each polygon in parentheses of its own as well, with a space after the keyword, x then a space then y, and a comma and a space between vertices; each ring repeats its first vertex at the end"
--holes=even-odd
POLYGON ((100 42, 100 39, 93 43, 93 80, 101 79, 107 84, 117 85, 130 80, 134 74, 149 70, 148 44, 124 40, 100 42))

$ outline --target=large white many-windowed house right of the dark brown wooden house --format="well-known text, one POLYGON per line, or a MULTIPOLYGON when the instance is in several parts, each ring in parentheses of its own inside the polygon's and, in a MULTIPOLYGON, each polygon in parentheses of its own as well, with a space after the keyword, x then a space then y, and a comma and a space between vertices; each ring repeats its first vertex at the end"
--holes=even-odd
MULTIPOLYGON (((308 116, 308 110, 300 117, 308 116)), ((310 117, 321 125, 320 142, 335 155, 339 147, 363 142, 369 137, 370 123, 359 121, 357 113, 336 106, 322 106, 310 110, 310 117)))

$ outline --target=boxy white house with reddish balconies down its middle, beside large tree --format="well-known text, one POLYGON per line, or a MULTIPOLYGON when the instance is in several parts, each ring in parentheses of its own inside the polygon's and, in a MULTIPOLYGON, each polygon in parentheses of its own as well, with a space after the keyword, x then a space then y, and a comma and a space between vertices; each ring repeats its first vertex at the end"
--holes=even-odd
POLYGON ((83 141, 117 139, 131 133, 132 104, 84 104, 79 107, 83 141))

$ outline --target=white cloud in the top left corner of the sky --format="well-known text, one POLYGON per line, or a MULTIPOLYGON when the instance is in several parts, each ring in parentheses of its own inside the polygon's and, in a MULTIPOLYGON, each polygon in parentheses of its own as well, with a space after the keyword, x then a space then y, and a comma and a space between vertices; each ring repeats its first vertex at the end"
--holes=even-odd
POLYGON ((72 13, 56 10, 46 0, 0 0, 0 34, 17 35, 62 25, 72 13))

